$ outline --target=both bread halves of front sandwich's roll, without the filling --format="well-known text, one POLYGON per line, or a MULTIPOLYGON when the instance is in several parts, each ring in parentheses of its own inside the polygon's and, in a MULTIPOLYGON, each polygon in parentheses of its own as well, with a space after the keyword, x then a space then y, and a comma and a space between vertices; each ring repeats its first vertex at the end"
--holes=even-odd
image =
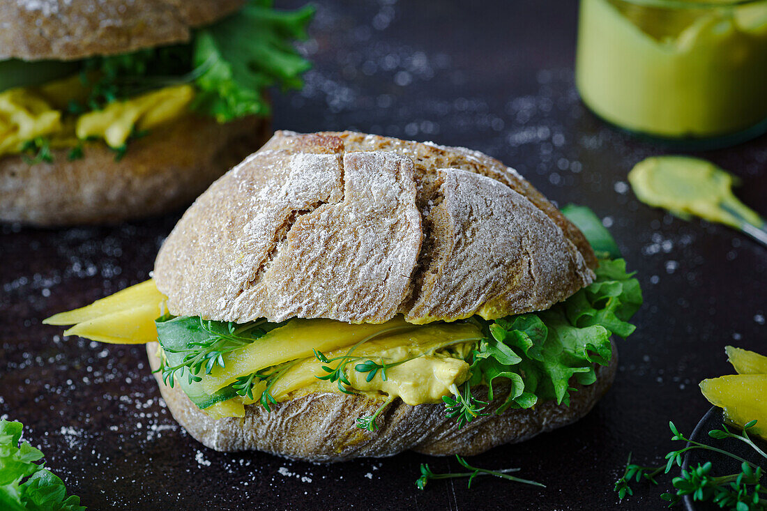
MULTIPOLYGON (((203 193, 171 232, 153 278, 173 315, 216 321, 381 323, 486 319, 550 308, 594 279, 583 234, 515 170, 482 153, 374 135, 278 132, 203 193)), ((156 345, 147 346, 157 368, 156 345)), ((212 420, 158 377, 189 434, 216 450, 311 461, 413 449, 475 454, 577 420, 610 386, 617 354, 571 405, 539 404, 462 429, 442 404, 315 393, 268 414, 212 420)), ((503 392, 496 396, 504 395, 503 392)), ((496 398, 489 410, 502 403, 496 398)))

